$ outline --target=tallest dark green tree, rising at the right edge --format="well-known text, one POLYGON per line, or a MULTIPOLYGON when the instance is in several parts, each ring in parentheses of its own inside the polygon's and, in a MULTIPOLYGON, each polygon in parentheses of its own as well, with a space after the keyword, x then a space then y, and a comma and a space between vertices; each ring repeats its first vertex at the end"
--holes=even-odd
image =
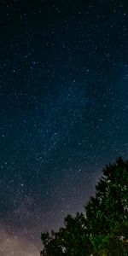
POLYGON ((96 196, 90 198, 85 212, 93 251, 97 253, 107 247, 107 255, 120 255, 118 247, 124 247, 121 251, 124 255, 127 250, 124 241, 128 239, 123 229, 126 224, 128 227, 128 161, 119 158, 113 165, 106 166, 96 185, 96 196), (124 241, 120 239, 122 230, 124 241), (110 254, 113 251, 115 254, 110 254))

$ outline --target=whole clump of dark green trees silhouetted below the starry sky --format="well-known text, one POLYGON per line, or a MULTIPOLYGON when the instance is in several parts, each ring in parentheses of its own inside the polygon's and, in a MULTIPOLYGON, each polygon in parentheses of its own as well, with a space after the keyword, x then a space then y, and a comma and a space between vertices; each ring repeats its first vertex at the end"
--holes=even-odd
POLYGON ((67 215, 64 224, 41 234, 41 255, 128 256, 128 161, 106 166, 84 213, 67 215))

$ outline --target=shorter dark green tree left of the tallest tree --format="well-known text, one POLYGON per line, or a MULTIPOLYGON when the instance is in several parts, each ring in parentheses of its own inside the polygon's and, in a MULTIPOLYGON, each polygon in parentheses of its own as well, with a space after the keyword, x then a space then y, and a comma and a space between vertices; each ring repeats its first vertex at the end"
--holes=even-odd
POLYGON ((42 255, 84 255, 87 247, 84 214, 77 213, 75 218, 67 215, 64 224, 65 226, 58 232, 52 231, 50 236, 48 232, 42 233, 41 239, 44 243, 42 255))

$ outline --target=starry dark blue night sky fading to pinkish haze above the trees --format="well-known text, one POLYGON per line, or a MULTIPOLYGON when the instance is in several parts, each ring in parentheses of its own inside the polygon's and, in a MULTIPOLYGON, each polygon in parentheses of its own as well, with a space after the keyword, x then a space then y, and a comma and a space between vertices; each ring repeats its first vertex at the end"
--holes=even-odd
POLYGON ((0 254, 38 256, 127 157, 128 5, 0 4, 0 254))

